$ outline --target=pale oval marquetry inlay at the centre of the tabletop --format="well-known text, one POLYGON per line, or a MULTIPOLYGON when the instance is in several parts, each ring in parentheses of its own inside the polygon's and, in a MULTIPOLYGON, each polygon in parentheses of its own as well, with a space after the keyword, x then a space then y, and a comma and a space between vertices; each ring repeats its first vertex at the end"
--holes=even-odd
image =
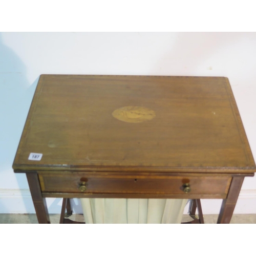
POLYGON ((153 119, 156 113, 144 106, 123 106, 115 110, 112 116, 123 122, 141 123, 153 119))

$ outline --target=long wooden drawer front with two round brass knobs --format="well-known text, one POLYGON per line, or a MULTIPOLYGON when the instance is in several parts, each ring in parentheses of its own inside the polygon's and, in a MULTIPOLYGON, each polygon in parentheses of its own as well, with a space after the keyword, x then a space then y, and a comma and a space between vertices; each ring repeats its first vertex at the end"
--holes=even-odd
POLYGON ((116 197, 123 195, 126 198, 129 198, 129 194, 159 197, 174 195, 177 198, 210 198, 210 195, 212 198, 212 195, 216 195, 215 198, 225 198, 232 179, 227 175, 123 176, 81 172, 41 172, 38 176, 42 193, 115 194, 116 197), (125 194, 128 195, 124 196, 125 194))

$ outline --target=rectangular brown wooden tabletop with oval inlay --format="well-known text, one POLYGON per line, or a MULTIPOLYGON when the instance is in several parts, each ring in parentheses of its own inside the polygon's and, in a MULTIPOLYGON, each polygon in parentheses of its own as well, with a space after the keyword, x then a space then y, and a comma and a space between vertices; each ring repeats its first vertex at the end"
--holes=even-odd
POLYGON ((225 77, 41 75, 13 168, 254 173, 255 163, 225 77))

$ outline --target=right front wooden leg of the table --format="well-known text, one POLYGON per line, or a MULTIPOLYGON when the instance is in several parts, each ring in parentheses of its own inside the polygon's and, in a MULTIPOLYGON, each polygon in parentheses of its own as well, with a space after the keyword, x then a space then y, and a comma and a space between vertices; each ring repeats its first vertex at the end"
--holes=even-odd
POLYGON ((228 224, 230 222, 243 181, 244 177, 241 176, 232 178, 227 198, 222 201, 221 211, 217 223, 228 224))

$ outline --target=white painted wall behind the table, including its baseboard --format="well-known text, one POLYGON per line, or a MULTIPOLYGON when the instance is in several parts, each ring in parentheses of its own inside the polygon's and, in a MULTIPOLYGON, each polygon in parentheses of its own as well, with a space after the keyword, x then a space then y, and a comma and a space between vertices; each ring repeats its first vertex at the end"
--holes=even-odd
MULTIPOLYGON (((256 159, 256 33, 1 33, 2 213, 34 212, 12 162, 40 74, 226 76, 256 159)), ((60 199, 47 202, 60 212, 60 199)), ((217 214, 220 203, 203 200, 204 213, 217 214)), ((235 212, 256 213, 256 177, 245 179, 235 212)))

